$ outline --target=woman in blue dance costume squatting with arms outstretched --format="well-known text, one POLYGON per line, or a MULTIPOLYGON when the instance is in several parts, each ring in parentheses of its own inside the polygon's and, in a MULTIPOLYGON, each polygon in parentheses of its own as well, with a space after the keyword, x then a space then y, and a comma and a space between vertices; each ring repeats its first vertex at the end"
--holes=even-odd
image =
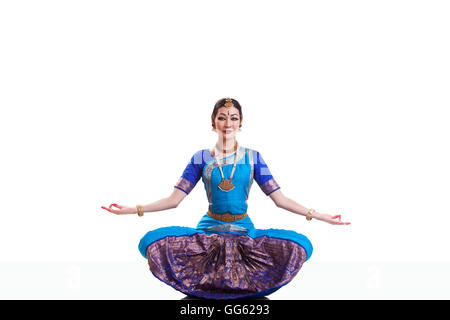
POLYGON ((277 207, 336 225, 347 225, 340 215, 305 208, 285 197, 258 151, 241 147, 236 133, 242 126, 238 101, 217 101, 211 116, 216 145, 196 152, 173 193, 136 207, 102 207, 114 214, 135 214, 176 208, 202 178, 208 212, 197 227, 165 227, 149 231, 139 250, 151 272, 189 295, 210 299, 266 296, 289 283, 311 257, 304 235, 281 229, 255 229, 247 215, 253 179, 277 207), (113 209, 116 207, 118 209, 113 209))

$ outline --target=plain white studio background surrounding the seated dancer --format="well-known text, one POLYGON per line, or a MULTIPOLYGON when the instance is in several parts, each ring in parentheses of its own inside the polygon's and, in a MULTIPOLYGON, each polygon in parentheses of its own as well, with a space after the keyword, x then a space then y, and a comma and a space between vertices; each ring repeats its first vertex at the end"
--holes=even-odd
POLYGON ((243 107, 242 146, 332 226, 274 206, 257 228, 314 246, 271 299, 450 298, 450 5, 446 1, 2 1, 0 297, 180 299, 137 250, 195 227, 217 99, 243 107))

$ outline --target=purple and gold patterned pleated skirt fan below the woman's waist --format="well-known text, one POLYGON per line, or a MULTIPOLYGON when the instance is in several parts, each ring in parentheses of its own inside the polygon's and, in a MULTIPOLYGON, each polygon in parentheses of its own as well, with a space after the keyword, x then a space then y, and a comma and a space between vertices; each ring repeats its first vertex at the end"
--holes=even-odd
POLYGON ((268 295, 289 283, 307 259, 295 241, 233 233, 168 235, 144 250, 158 279, 208 299, 268 295))

